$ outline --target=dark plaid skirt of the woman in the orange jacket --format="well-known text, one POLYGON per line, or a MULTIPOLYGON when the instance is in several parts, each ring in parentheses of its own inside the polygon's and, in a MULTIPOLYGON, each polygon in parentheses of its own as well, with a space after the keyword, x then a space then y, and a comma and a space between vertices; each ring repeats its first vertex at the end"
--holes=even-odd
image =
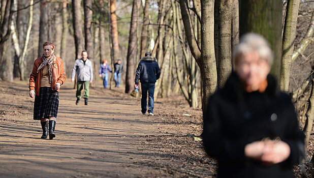
POLYGON ((35 95, 34 120, 57 117, 59 106, 59 92, 51 87, 40 87, 39 96, 35 95))

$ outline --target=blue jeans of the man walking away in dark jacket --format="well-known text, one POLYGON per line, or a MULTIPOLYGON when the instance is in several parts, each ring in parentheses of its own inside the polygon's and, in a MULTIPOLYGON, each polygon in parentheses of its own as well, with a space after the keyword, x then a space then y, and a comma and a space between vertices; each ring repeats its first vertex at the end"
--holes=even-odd
POLYGON ((148 91, 148 113, 153 113, 154 109, 154 90, 155 83, 141 83, 142 88, 142 113, 145 113, 147 110, 147 91, 148 91))

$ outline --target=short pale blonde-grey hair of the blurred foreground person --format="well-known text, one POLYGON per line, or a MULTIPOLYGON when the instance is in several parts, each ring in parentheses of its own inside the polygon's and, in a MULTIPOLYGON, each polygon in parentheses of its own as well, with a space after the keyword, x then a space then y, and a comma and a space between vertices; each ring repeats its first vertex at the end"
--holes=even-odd
POLYGON ((273 52, 269 47, 267 40, 259 34, 248 33, 240 38, 239 44, 235 47, 233 53, 233 65, 237 64, 241 55, 257 52, 271 67, 273 63, 273 52))

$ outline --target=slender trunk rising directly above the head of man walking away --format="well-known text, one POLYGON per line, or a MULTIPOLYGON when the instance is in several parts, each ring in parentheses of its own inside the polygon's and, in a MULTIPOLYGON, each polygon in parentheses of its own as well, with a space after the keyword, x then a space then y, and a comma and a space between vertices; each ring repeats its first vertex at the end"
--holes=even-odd
POLYGON ((148 24, 149 24, 149 3, 150 0, 145 0, 144 7, 144 17, 143 17, 143 26, 142 26, 142 34, 141 34, 141 55, 143 57, 145 52, 147 51, 147 39, 148 39, 148 24))

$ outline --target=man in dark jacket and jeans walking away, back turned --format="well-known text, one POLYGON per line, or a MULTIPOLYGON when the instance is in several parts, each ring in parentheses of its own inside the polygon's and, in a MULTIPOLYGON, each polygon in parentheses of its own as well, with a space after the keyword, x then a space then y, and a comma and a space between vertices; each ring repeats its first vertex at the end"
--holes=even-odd
POLYGON ((142 113, 145 114, 147 110, 147 91, 148 91, 148 113, 153 114, 154 109, 154 90, 155 82, 160 77, 160 68, 155 57, 151 56, 150 52, 145 53, 145 57, 141 58, 139 66, 135 75, 135 87, 139 86, 139 80, 141 81, 142 89, 142 113))

